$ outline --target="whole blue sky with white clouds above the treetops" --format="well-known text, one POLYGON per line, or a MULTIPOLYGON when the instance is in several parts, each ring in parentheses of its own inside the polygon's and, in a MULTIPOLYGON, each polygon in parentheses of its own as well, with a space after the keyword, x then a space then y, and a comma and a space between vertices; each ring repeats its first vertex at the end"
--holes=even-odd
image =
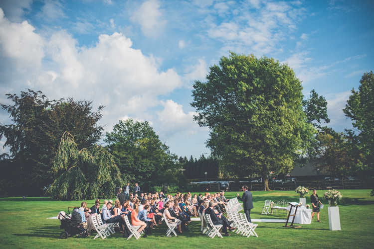
MULTIPOLYGON (((192 85, 233 51, 288 63, 343 132, 351 90, 374 69, 373 10, 371 0, 0 0, 0 103, 27 88, 92 100, 105 131, 147 120, 172 153, 198 158, 209 129, 193 121, 192 85)), ((4 110, 0 123, 11 124, 4 110)))

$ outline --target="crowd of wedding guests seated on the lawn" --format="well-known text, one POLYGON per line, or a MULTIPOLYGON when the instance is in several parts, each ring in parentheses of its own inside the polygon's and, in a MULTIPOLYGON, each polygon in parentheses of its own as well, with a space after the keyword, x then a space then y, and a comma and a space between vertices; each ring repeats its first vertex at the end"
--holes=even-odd
POLYGON ((124 194, 119 191, 117 199, 113 204, 113 200, 104 200, 102 208, 100 208, 100 200, 95 201, 95 205, 91 208, 87 207, 86 202, 81 203, 81 207, 76 211, 82 217, 81 225, 88 230, 93 229, 93 224, 89 217, 91 215, 101 215, 104 223, 118 223, 120 233, 125 233, 127 229, 125 216, 134 226, 140 226, 138 232, 144 230, 143 237, 152 234, 152 229, 162 224, 162 216, 165 214, 168 222, 177 223, 178 233, 189 231, 187 223, 191 222, 192 216, 198 217, 203 211, 209 214, 212 222, 222 224, 222 232, 229 236, 228 231, 235 228, 230 227, 230 223, 222 215, 225 212, 227 199, 224 192, 221 193, 204 193, 191 195, 178 192, 174 196, 165 195, 163 192, 152 193, 136 193, 124 194))

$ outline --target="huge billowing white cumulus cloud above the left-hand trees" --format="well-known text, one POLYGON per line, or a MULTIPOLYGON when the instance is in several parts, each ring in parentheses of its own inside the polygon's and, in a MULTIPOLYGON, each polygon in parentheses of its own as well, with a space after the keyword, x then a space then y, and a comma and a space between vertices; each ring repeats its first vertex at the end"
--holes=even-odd
MULTIPOLYGON (((50 99, 94 100, 95 106, 106 106, 100 124, 111 129, 126 116, 150 120, 147 112, 161 105, 159 96, 184 85, 175 69, 161 71, 155 57, 132 48, 132 41, 121 33, 102 34, 94 46, 80 47, 64 30, 42 38, 27 21, 12 23, 0 11, 0 61, 12 60, 20 71, 33 67, 20 74, 19 84, 12 80, 6 85, 2 79, 1 92, 19 93, 30 87, 50 99), (48 61, 41 60, 44 55, 48 61)), ((4 70, 1 67, 1 75, 4 70)))

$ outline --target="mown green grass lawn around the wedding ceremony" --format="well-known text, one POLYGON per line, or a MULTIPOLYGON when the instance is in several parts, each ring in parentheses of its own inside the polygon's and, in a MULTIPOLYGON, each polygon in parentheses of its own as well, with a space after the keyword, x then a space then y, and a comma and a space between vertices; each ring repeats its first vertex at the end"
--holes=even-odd
MULTIPOLYGON (((339 204, 341 231, 329 230, 327 206, 321 210, 321 223, 313 218, 312 224, 301 228, 283 228, 283 223, 258 223, 255 237, 242 237, 231 232, 230 237, 210 239, 199 232, 200 222, 188 225, 190 232, 184 232, 177 238, 167 238, 166 225, 152 230, 148 238, 126 240, 122 234, 114 234, 105 240, 100 237, 93 240, 96 233, 86 239, 59 239, 61 231, 59 220, 47 219, 56 216, 59 211, 67 211, 69 206, 79 206, 79 201, 51 201, 49 198, 0 198, 0 245, 1 248, 374 248, 374 197, 370 190, 341 190, 343 201, 339 204), (359 201, 356 202, 354 198, 359 201)), ((322 196, 323 191, 317 194, 322 196)), ((236 197, 236 192, 227 192, 226 198, 236 197)), ((285 212, 274 215, 262 215, 261 206, 265 199, 299 201, 294 191, 253 191, 254 209, 252 219, 286 219, 285 212)), ((307 202, 309 198, 307 197, 307 202)), ((94 205, 93 200, 87 201, 94 205)), ((322 203, 327 204, 326 201, 322 203)))

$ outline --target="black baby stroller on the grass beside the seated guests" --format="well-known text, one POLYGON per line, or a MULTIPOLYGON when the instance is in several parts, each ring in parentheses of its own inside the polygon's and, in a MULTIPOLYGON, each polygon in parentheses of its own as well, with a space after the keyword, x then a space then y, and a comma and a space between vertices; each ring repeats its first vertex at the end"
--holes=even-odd
MULTIPOLYGON (((70 214, 69 208, 67 210, 70 214)), ((72 235, 79 235, 82 238, 86 238, 88 236, 87 229, 79 225, 82 222, 82 217, 77 211, 73 211, 73 213, 71 214, 71 219, 62 214, 61 216, 65 219, 61 220, 60 229, 64 229, 65 232, 62 232, 60 234, 60 239, 67 239, 67 237, 72 235)))

